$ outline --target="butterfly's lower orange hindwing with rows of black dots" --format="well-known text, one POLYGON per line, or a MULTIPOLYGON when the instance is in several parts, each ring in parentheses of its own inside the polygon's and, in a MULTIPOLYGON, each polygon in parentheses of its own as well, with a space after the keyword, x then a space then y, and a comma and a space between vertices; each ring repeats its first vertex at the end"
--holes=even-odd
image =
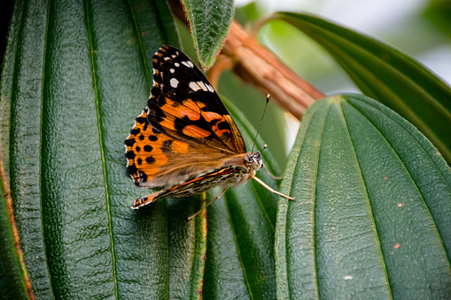
POLYGON ((220 150, 206 149, 204 144, 183 142, 160 133, 149 124, 148 112, 149 109, 144 108, 124 142, 127 172, 137 186, 173 186, 229 161, 230 156, 220 150))

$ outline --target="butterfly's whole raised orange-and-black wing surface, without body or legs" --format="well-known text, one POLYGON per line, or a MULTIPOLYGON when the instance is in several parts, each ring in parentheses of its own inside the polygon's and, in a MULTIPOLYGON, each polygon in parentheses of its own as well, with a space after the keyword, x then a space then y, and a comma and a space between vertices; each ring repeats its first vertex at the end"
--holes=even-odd
POLYGON ((125 141, 127 170, 136 185, 180 184, 245 153, 229 112, 190 58, 164 46, 153 65, 148 107, 125 141), (200 88, 192 88, 191 82, 200 88))

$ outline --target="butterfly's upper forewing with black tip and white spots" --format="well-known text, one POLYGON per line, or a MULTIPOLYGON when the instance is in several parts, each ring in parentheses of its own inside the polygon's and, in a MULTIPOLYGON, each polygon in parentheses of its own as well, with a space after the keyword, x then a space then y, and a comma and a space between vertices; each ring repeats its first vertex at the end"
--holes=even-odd
POLYGON ((245 153, 245 142, 214 88, 182 51, 161 47, 153 56, 148 120, 159 132, 224 153, 245 153))

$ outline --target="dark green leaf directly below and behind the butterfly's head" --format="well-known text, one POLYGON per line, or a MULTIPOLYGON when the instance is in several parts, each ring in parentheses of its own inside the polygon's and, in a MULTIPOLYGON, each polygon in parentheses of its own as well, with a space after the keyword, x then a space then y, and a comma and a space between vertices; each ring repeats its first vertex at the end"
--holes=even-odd
MULTIPOLYGON (((224 101, 237 123, 245 143, 251 150, 255 130, 244 121, 228 101, 224 101)), ((255 149, 263 149, 264 142, 257 139, 255 149)), ((268 170, 279 174, 276 162, 268 150, 261 152, 268 170)), ((260 170, 257 177, 272 188, 276 182, 260 170)), ((209 198, 220 190, 209 193, 209 198)), ((227 193, 207 212, 206 273, 203 296, 207 299, 276 297, 274 261, 274 233, 278 196, 270 193, 256 181, 229 188, 227 193)))

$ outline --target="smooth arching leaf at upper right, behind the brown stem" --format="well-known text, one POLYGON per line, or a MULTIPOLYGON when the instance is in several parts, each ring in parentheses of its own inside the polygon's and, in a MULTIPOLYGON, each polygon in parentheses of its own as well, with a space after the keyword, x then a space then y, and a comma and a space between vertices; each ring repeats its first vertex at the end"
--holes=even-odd
POLYGON ((305 14, 284 19, 323 46, 362 92, 387 105, 426 135, 451 163, 451 88, 384 42, 305 14))

